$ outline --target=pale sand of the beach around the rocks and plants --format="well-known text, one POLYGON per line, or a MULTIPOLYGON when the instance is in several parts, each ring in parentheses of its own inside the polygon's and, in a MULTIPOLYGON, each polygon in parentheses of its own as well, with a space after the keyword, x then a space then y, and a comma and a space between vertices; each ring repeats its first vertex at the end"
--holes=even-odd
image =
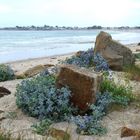
MULTIPOLYGON (((140 46, 136 44, 130 44, 128 47, 136 53, 137 49, 140 49, 140 46)), ((15 61, 6 63, 12 67, 15 72, 25 72, 29 68, 32 68, 37 65, 56 65, 59 61, 65 60, 67 57, 72 56, 74 53, 52 56, 52 57, 43 57, 43 58, 35 58, 28 59, 22 61, 15 61)), ((121 77, 123 81, 124 75, 119 72, 114 73, 115 77, 121 77), (116 75, 116 76, 115 76, 116 75)), ((16 79, 12 81, 0 82, 0 86, 3 86, 11 91, 11 94, 0 98, 0 128, 5 130, 5 132, 13 133, 13 137, 17 136, 19 132, 24 135, 27 140, 42 140, 43 137, 41 135, 37 135, 32 132, 31 126, 36 123, 38 120, 28 115, 24 114, 20 109, 17 108, 16 105, 16 86, 21 83, 21 79, 16 79), (7 117, 7 114, 14 113, 16 114, 15 118, 7 117)), ((119 79, 120 82, 120 79, 119 79)), ((139 82, 131 82, 131 85, 134 89, 134 93, 140 94, 140 83, 139 82)), ((56 129, 61 129, 66 131, 69 128, 69 134, 71 135, 72 140, 80 139, 80 140, 122 140, 120 138, 121 127, 128 126, 130 128, 139 129, 140 126, 140 111, 138 108, 134 108, 132 106, 123 109, 121 111, 113 111, 110 112, 108 116, 105 116, 102 120, 102 123, 106 126, 108 133, 104 136, 78 136, 76 133, 76 127, 70 125, 67 122, 62 122, 58 124, 54 124, 56 129), (117 114, 117 115, 116 115, 117 114), (127 117, 126 117, 127 116, 127 117)), ((133 139, 133 138, 132 138, 133 139)), ((123 138, 123 140, 132 140, 131 138, 123 138)))

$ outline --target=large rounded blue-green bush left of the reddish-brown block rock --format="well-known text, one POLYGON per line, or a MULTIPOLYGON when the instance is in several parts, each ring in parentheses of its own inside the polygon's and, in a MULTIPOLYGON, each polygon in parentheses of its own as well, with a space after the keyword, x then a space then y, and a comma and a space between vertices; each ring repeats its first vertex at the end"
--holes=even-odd
POLYGON ((70 90, 67 87, 56 88, 52 75, 23 80, 17 86, 16 96, 19 108, 40 119, 66 120, 74 111, 70 104, 70 90))

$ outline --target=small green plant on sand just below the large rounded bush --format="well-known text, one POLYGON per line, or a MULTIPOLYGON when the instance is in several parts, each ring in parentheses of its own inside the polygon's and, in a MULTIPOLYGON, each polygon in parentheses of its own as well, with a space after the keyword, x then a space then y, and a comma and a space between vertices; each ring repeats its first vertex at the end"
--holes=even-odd
POLYGON ((39 123, 32 125, 34 128, 34 132, 39 135, 46 135, 48 134, 48 130, 50 125, 53 123, 50 119, 41 120, 39 123))

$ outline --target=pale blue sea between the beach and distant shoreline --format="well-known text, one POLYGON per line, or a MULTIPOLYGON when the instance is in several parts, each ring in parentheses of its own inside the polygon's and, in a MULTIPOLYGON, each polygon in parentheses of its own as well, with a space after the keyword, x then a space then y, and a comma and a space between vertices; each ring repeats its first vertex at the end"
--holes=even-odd
MULTIPOLYGON (((100 30, 4 31, 0 30, 0 63, 87 50, 100 30)), ((123 44, 140 42, 140 31, 111 31, 123 44)))

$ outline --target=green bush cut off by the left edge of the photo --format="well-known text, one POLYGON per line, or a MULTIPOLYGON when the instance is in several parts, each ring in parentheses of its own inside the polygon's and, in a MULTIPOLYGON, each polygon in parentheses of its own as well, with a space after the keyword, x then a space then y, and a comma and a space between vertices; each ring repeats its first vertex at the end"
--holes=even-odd
POLYGON ((0 82, 14 79, 14 71, 10 66, 0 64, 0 82))

